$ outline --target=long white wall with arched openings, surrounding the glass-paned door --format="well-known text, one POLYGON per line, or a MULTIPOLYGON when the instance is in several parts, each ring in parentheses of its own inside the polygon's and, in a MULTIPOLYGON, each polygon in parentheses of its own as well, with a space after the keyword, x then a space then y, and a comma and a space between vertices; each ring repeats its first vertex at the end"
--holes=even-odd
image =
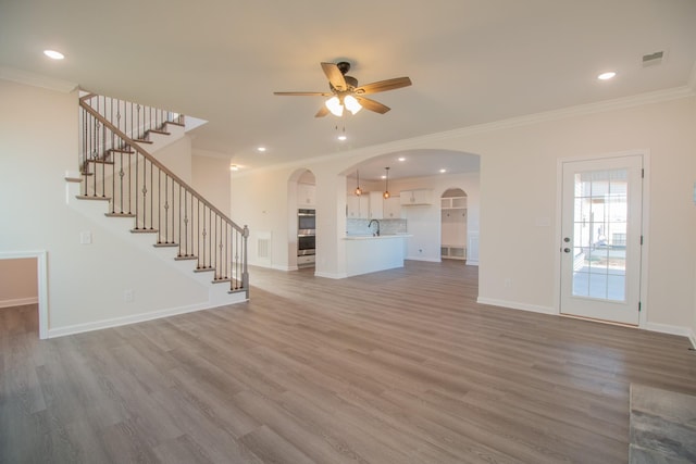
MULTIPOLYGON (((680 89, 673 95, 664 92, 644 96, 642 100, 569 109, 306 160, 302 165, 316 177, 318 215, 321 213, 326 222, 322 222, 326 234, 318 237, 318 253, 320 242, 323 248, 316 263, 318 275, 339 274, 341 267, 338 231, 345 230, 346 198, 341 173, 352 172, 351 166, 363 160, 408 149, 445 149, 481 155, 480 212, 470 211, 469 224, 470 231, 481 234, 480 299, 550 313, 558 312, 560 160, 632 150, 649 153, 646 191, 649 222, 645 230, 649 279, 647 301, 643 302, 644 326, 682 334, 694 329, 696 209, 692 189, 696 180, 696 99, 693 92, 680 89), (335 224, 328 224, 334 220, 335 224), (506 280, 509 287, 505 286, 506 280)), ((236 192, 233 211, 237 206, 234 198, 239 198, 244 189, 251 191, 246 198, 257 198, 258 193, 258 203, 240 208, 252 230, 275 227, 281 235, 274 235, 274 247, 283 247, 287 237, 283 236, 283 227, 271 224, 269 213, 286 214, 285 189, 275 186, 284 185, 291 170, 291 166, 258 170, 233 180, 236 192)), ((476 195, 471 188, 462 188, 468 195, 476 195)))

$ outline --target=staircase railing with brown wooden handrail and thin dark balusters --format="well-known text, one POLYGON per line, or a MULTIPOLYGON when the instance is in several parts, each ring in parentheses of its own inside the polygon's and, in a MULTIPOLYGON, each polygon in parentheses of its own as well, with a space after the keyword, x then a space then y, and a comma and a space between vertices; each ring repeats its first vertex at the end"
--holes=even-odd
POLYGON ((154 248, 175 250, 174 260, 190 262, 191 272, 209 275, 211 284, 228 286, 228 293, 248 299, 249 229, 145 148, 153 136, 184 127, 184 116, 92 93, 82 97, 79 106, 77 198, 108 202, 107 217, 132 218, 132 234, 151 235, 154 248))

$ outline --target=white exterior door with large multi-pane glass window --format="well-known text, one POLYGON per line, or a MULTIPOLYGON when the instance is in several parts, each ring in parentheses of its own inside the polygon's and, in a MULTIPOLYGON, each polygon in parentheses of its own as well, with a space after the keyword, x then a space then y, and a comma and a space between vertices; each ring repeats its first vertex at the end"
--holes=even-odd
POLYGON ((637 325, 643 156, 562 166, 562 314, 637 325))

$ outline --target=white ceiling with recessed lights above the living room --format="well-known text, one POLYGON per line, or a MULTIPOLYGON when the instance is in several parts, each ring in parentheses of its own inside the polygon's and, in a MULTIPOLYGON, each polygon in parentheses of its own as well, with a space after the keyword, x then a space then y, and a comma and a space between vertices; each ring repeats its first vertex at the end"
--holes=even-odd
MULTIPOLYGON (((0 66, 208 120, 195 149, 249 168, 694 86, 695 25, 695 0, 0 0, 0 66), (373 96, 384 115, 343 118, 314 118, 319 97, 273 96, 326 90, 320 62, 339 60, 361 84, 413 85, 373 96)), ((468 162, 418 158, 440 155, 468 162)))

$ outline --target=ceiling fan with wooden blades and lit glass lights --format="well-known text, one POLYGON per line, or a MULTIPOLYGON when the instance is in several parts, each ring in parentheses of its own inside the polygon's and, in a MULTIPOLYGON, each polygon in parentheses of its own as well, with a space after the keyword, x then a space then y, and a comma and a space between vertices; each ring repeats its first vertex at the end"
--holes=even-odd
POLYGON ((377 93, 387 90, 399 89, 411 85, 408 77, 396 77, 394 79, 380 80, 364 86, 358 86, 358 79, 347 76, 350 70, 350 63, 341 61, 339 63, 322 63, 322 70, 328 78, 330 92, 273 92, 281 96, 319 96, 331 97, 326 100, 324 106, 321 108, 314 117, 323 117, 328 113, 341 116, 344 108, 356 114, 362 108, 375 113, 384 114, 389 111, 389 106, 378 101, 365 98, 365 95, 377 93))

